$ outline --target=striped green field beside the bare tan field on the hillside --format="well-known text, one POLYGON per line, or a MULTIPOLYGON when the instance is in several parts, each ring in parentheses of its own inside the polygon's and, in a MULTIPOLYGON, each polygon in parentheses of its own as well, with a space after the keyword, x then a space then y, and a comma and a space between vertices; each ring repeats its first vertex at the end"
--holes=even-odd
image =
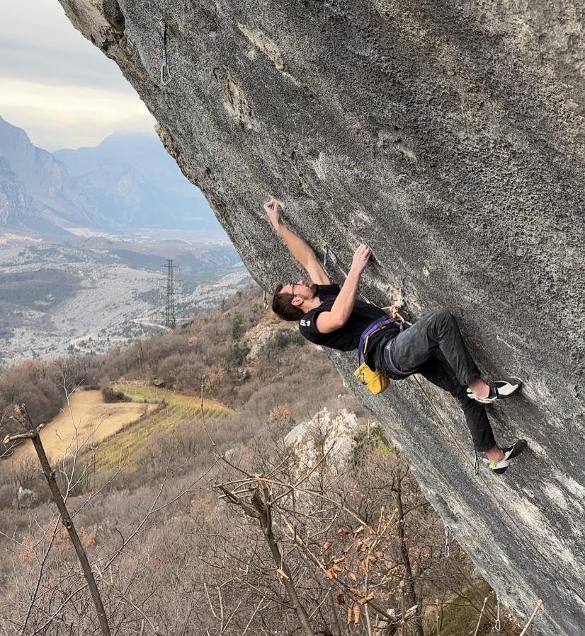
MULTIPOLYGON (((140 448, 152 434, 169 432, 187 422, 201 422, 201 401, 190 395, 179 395, 173 391, 151 386, 119 384, 115 391, 122 391, 136 402, 159 403, 159 410, 128 424, 115 435, 103 441, 96 451, 98 470, 134 469, 140 459, 140 448)), ((204 400, 203 416, 229 417, 233 411, 215 400, 204 400)), ((200 424, 199 424, 200 425, 200 424)))

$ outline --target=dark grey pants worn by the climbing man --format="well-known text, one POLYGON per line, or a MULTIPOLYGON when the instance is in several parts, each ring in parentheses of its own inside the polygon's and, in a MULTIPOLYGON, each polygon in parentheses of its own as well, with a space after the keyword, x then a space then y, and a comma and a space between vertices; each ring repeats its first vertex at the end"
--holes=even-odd
MULTIPOLYGON (((385 349, 385 359, 406 374, 419 373, 429 382, 459 400, 478 451, 496 446, 484 405, 467 397, 467 385, 479 378, 479 369, 463 338, 457 321, 446 310, 427 313, 399 333, 385 349)), ((397 378, 396 374, 388 373, 397 378)))

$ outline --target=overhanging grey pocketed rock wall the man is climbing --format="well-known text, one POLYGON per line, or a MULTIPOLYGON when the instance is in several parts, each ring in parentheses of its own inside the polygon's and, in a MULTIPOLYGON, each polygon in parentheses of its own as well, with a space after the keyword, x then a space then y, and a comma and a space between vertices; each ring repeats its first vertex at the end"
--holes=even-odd
POLYGON ((490 412, 503 444, 523 436, 530 451, 503 478, 476 476, 449 395, 414 378, 366 395, 355 355, 332 354, 501 602, 523 623, 543 599, 530 633, 580 635, 582 4, 60 1, 140 93, 265 289, 301 274, 261 209, 275 195, 345 269, 358 243, 373 247, 369 299, 412 318, 448 307, 487 376, 523 378, 490 412))

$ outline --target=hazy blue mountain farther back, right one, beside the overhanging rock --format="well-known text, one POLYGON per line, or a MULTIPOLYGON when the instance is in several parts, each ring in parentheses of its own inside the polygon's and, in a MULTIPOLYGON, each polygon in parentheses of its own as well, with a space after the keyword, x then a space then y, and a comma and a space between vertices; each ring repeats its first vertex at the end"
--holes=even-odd
POLYGON ((113 226, 219 228, 205 197, 154 134, 115 133, 98 146, 53 154, 113 226))

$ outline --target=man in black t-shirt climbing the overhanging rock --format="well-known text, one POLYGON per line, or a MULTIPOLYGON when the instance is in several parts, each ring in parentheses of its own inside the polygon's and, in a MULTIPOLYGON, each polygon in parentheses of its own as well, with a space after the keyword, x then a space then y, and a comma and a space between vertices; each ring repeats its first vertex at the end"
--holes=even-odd
MULTIPOLYGON (((401 380, 418 373, 457 398, 465 414, 477 451, 486 456, 494 473, 504 473, 511 459, 526 449, 518 440, 501 449, 489 424, 486 404, 516 393, 520 381, 485 382, 467 350, 455 318, 445 310, 426 314, 410 328, 379 307, 358 299, 360 277, 368 265, 371 251, 360 245, 341 289, 329 276, 312 248, 283 224, 280 204, 272 199, 264 204, 278 236, 290 253, 307 270, 311 282, 280 284, 274 291, 273 311, 284 320, 299 323, 300 333, 310 342, 341 351, 358 349, 360 337, 368 333, 364 353, 370 369, 388 378, 401 380)), ((396 318, 397 309, 390 308, 396 318)))

